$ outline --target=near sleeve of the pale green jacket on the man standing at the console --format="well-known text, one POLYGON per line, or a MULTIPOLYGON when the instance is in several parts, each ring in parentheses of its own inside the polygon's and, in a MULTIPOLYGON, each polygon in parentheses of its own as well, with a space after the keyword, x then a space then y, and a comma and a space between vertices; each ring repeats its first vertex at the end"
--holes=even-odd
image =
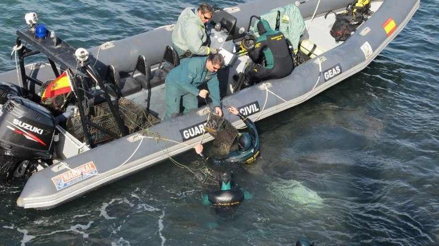
POLYGON ((204 28, 191 23, 185 28, 186 44, 193 55, 206 56, 211 53, 210 48, 203 46, 204 28))

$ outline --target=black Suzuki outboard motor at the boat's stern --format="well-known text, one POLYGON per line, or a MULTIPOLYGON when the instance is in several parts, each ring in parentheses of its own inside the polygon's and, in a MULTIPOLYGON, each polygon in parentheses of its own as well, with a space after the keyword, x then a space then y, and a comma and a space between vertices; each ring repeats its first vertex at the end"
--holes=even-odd
POLYGON ((0 109, 0 181, 48 166, 44 160, 52 158, 55 132, 47 109, 17 95, 7 97, 0 109))

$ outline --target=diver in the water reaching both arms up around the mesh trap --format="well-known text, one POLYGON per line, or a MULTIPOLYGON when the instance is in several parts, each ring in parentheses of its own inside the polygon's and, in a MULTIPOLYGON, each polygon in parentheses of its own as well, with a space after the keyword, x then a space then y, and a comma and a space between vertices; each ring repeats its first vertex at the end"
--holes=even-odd
MULTIPOLYGON (((230 152, 224 159, 211 158, 212 162, 216 165, 223 163, 246 163, 250 164, 259 156, 259 135, 257 134, 256 126, 253 121, 242 115, 237 108, 229 107, 227 109, 230 113, 239 116, 244 124, 247 126, 249 132, 238 133, 237 143, 238 150, 230 152)), ((200 155, 203 159, 207 160, 203 154, 203 145, 197 144, 195 147, 195 152, 200 155)))

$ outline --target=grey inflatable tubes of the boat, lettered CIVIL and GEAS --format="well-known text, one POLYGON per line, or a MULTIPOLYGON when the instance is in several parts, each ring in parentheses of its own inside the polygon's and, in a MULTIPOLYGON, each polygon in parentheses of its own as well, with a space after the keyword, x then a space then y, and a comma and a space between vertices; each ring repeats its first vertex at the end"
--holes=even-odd
MULTIPOLYGON (((302 14, 310 18, 316 2, 309 1, 300 5, 302 14)), ((349 2, 351 0, 322 1, 318 14, 342 8, 349 2)), ((290 1, 274 0, 270 1, 268 7, 262 1, 250 2, 238 5, 240 11, 232 14, 238 19, 238 27, 246 26, 250 15, 261 14, 288 3, 290 1), (260 4, 261 7, 255 10, 254 4, 260 4)), ((243 114, 257 121, 308 100, 366 68, 404 28, 419 4, 419 0, 385 0, 378 11, 342 45, 296 67, 286 78, 266 81, 225 96, 222 104, 236 105, 243 114), (385 28, 389 19, 396 24, 391 33, 385 28)), ((106 66, 113 64, 118 71, 128 72, 134 67, 133 61, 139 54, 144 55, 152 64, 159 63, 163 54, 157 51, 162 51, 166 45, 171 44, 170 29, 170 26, 160 27, 114 41, 108 44, 111 48, 91 48, 92 56, 98 58, 97 70, 103 74, 106 66), (153 44, 152 40, 156 43, 153 44)), ((29 73, 40 78, 50 76, 49 66, 40 66, 37 69, 37 66, 33 66, 34 68, 28 67, 29 73)), ((0 74, 0 80, 16 81, 16 71, 0 74)), ((207 108, 201 108, 163 121, 149 128, 147 133, 131 134, 38 171, 27 181, 17 205, 37 209, 55 207, 188 151, 202 139, 204 142, 211 141, 213 138, 209 134, 203 134, 207 120, 206 111, 207 108)), ((236 116, 226 117, 235 127, 244 127, 236 116)))

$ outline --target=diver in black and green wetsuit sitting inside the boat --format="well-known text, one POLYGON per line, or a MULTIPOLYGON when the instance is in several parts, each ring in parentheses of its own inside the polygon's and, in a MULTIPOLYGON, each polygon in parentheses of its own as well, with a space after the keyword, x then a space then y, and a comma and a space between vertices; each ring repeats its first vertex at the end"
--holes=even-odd
POLYGON ((291 52, 283 33, 273 30, 264 19, 257 22, 257 31, 260 35, 257 39, 254 35, 247 35, 242 42, 252 60, 245 69, 244 86, 283 78, 294 69, 291 52), (260 65, 263 59, 265 66, 260 65))

